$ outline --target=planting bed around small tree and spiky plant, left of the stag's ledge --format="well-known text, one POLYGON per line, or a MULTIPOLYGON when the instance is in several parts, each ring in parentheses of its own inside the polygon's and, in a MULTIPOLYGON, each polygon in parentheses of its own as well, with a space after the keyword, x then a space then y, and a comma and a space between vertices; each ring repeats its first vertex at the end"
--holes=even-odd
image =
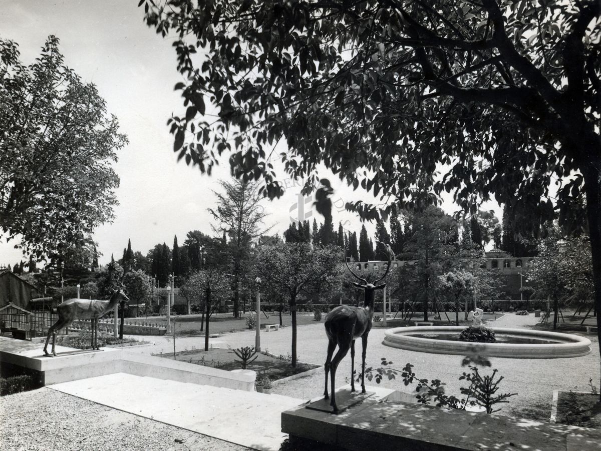
MULTIPOLYGON (((173 354, 157 354, 157 357, 165 359, 173 359, 173 354)), ((212 368, 224 369, 231 371, 233 369, 242 369, 242 365, 236 360, 240 360, 233 350, 214 348, 209 351, 182 351, 175 354, 176 360, 180 362, 194 363, 195 365, 210 366, 212 368)), ((290 364, 287 356, 282 356, 280 359, 276 357, 266 356, 265 354, 257 354, 257 359, 246 366, 246 369, 252 369, 257 372, 257 378, 267 377, 272 381, 283 379, 299 373, 304 373, 314 368, 319 368, 319 365, 311 365, 310 363, 297 363, 296 368, 290 364)))

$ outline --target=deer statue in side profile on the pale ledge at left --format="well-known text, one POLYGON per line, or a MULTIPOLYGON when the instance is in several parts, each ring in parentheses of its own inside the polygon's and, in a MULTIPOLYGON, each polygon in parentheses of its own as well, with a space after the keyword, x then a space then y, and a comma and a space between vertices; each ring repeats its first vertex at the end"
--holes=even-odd
POLYGON ((92 349, 99 350, 98 346, 98 319, 102 318, 102 316, 106 315, 106 313, 110 312, 115 308, 118 301, 124 299, 129 301, 129 298, 126 296, 124 286, 117 286, 117 288, 113 289, 113 294, 111 298, 106 301, 101 301, 97 299, 67 299, 63 303, 59 304, 56 307, 56 313, 58 313, 58 321, 55 322, 48 329, 48 336, 46 337, 46 345, 44 345, 44 356, 52 357, 56 356, 55 351, 55 342, 56 342, 56 332, 61 330, 63 327, 69 327, 75 319, 90 319, 91 320, 91 331, 92 331, 92 349), (48 354, 47 347, 48 342, 50 340, 50 335, 52 334, 52 356, 48 354))

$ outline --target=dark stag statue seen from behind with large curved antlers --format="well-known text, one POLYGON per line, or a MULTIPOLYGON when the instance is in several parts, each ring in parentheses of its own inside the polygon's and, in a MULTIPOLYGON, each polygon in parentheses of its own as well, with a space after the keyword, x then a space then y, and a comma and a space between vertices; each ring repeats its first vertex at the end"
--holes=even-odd
MULTIPOLYGON (((377 241, 376 241, 377 243, 377 241)), ((330 405, 332 406, 332 412, 338 413, 338 406, 336 405, 335 398, 335 385, 334 381, 336 378, 336 369, 338 364, 344 356, 349 352, 350 348, 350 391, 355 392, 355 339, 361 337, 362 352, 361 352, 361 393, 365 393, 365 351, 367 350, 367 336, 371 330, 371 320, 374 313, 374 295, 377 289, 383 289, 386 283, 377 285, 381 282, 389 273, 392 263, 392 250, 389 246, 384 245, 384 250, 380 252, 386 253, 388 256, 388 266, 386 267, 385 273, 377 279, 375 282, 368 282, 367 279, 359 277, 353 273, 350 269, 349 264, 346 261, 346 252, 348 245, 344 249, 344 263, 353 276, 359 279, 362 283, 353 282, 357 288, 361 288, 365 292, 365 297, 362 307, 352 307, 348 305, 341 305, 332 309, 328 313, 325 321, 326 335, 328 336, 328 357, 324 368, 326 370, 326 387, 324 390, 324 398, 329 399, 328 395, 328 373, 332 382, 332 400, 330 405), (338 352, 334 357, 335 348, 338 346, 338 352)))

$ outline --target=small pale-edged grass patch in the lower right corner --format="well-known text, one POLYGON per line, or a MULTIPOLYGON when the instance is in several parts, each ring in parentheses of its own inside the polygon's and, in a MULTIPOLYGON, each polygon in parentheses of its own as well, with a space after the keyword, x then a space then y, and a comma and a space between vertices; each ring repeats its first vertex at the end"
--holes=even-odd
POLYGON ((557 422, 582 428, 601 429, 599 394, 559 392, 557 422))

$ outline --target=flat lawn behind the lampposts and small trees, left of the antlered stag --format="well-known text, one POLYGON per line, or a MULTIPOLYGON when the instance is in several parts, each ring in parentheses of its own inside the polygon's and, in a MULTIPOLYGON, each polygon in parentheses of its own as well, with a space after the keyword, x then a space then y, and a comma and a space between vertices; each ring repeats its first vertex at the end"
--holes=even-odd
MULTIPOLYGON (((267 313, 269 318, 261 313, 261 325, 265 324, 279 324, 278 313, 267 313)), ((222 334, 229 332, 242 332, 249 330, 246 325, 246 315, 242 315, 242 318, 233 318, 231 313, 229 315, 213 315, 209 322, 209 333, 222 334)), ((325 315, 322 316, 322 322, 325 315)), ((145 318, 128 318, 130 322, 146 322, 145 318)), ((158 319, 148 318, 150 322, 156 322, 158 324, 166 324, 166 319, 160 317, 158 319)), ((171 316, 171 323, 175 322, 175 327, 178 336, 204 336, 204 330, 201 331, 202 317, 200 315, 182 315, 182 316, 171 316)), ((316 324, 319 321, 313 319, 313 313, 297 313, 296 322, 298 325, 305 324, 316 324)), ((282 315, 282 327, 290 327, 292 324, 292 316, 286 314, 282 315)))

